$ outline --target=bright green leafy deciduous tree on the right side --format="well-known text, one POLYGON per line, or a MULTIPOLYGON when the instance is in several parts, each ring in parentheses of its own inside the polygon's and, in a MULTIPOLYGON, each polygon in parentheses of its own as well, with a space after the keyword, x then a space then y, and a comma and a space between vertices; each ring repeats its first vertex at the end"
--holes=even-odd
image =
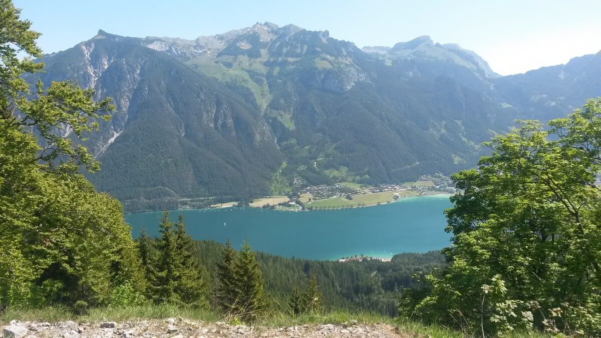
MULTIPOLYGON (((478 332, 601 334, 601 98, 548 128, 521 121, 454 174, 450 266, 413 309, 478 332)), ((406 308, 401 309, 406 313, 406 308)), ((480 333, 480 334, 482 334, 480 333)))

